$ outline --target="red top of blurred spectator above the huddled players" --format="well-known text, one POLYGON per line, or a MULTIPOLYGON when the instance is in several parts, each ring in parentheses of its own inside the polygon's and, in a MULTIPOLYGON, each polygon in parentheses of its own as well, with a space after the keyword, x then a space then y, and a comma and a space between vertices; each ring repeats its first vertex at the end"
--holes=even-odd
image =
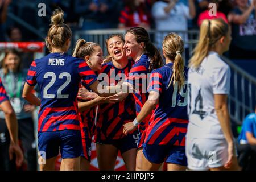
POLYGON ((141 23, 150 25, 149 15, 144 12, 142 7, 138 7, 137 10, 132 12, 129 7, 125 7, 121 11, 119 22, 125 24, 126 27, 137 27, 141 23))

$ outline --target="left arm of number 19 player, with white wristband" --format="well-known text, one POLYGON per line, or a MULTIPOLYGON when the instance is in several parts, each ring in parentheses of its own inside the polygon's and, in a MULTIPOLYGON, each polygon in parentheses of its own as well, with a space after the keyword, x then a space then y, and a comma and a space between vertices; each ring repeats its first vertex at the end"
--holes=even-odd
POLYGON ((126 123, 123 125, 123 133, 127 135, 131 131, 133 131, 139 123, 143 121, 144 118, 147 117, 148 114, 152 112, 153 109, 155 109, 156 105, 158 105, 159 102, 159 93, 155 91, 150 91, 148 100, 143 105, 141 111, 137 115, 137 117, 134 119, 133 122, 126 123))

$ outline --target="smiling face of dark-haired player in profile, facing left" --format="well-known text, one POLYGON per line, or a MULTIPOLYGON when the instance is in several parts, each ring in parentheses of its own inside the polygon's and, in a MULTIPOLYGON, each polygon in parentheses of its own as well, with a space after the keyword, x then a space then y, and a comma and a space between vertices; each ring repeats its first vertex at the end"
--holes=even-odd
POLYGON ((131 34, 130 32, 125 35, 125 45, 123 48, 126 50, 126 56, 132 57, 133 60, 136 59, 139 52, 143 51, 141 43, 139 44, 136 41, 135 35, 131 34))

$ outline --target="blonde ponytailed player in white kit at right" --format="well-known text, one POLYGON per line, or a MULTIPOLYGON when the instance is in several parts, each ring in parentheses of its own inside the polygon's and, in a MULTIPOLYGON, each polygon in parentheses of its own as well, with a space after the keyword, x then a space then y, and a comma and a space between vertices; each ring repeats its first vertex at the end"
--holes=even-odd
POLYGON ((222 19, 204 20, 188 71, 188 168, 239 170, 227 105, 230 68, 222 59, 231 42, 222 19))

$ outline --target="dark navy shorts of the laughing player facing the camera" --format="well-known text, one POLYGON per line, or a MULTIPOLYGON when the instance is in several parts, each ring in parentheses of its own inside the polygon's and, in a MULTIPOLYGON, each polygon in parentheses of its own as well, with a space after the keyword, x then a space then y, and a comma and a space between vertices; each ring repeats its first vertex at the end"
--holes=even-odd
POLYGON ((137 148, 138 131, 132 134, 127 134, 125 137, 116 140, 97 140, 97 144, 112 144, 122 153, 129 151, 132 148, 137 148))

